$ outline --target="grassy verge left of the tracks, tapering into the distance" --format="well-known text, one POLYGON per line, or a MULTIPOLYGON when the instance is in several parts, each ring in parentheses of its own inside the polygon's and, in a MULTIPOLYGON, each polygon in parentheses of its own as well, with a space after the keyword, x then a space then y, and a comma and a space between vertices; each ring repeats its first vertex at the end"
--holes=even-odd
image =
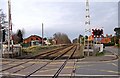
POLYGON ((17 57, 17 58, 29 58, 36 56, 40 53, 46 52, 46 51, 52 51, 57 48, 61 48, 65 45, 54 45, 54 46, 31 46, 28 48, 23 48, 22 49, 22 56, 17 57))

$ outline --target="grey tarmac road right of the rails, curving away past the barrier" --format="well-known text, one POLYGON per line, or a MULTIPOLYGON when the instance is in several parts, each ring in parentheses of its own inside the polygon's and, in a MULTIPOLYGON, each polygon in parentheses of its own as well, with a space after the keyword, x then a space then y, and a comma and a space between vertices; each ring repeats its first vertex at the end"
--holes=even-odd
POLYGON ((106 47, 105 50, 105 56, 78 60, 75 66, 76 76, 120 76, 118 48, 106 47))

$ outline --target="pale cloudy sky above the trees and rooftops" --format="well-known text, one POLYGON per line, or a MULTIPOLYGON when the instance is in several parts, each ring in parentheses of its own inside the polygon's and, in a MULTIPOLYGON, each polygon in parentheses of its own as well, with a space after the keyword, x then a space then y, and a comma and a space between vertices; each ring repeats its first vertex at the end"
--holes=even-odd
MULTIPOLYGON (((90 0, 90 28, 103 27, 104 34, 114 34, 118 26, 119 0, 90 0), (113 2, 114 1, 114 2, 113 2)), ((56 32, 66 33, 72 40, 84 35, 85 0, 11 0, 13 31, 25 30, 25 37, 56 32)), ((7 0, 0 0, 0 8, 7 14, 7 0)))

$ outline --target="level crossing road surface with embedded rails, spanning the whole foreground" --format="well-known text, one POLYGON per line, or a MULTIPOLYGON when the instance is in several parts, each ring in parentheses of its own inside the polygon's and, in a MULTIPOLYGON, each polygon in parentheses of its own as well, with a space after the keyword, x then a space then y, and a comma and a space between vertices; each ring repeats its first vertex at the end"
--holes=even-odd
POLYGON ((84 61, 86 59, 41 60, 41 59, 3 59, 0 74, 20 78, 34 77, 77 77, 77 76, 112 76, 117 78, 118 60, 112 61, 84 61), (50 62, 48 65, 46 65, 50 62), (45 65, 45 66, 44 66, 45 65))

